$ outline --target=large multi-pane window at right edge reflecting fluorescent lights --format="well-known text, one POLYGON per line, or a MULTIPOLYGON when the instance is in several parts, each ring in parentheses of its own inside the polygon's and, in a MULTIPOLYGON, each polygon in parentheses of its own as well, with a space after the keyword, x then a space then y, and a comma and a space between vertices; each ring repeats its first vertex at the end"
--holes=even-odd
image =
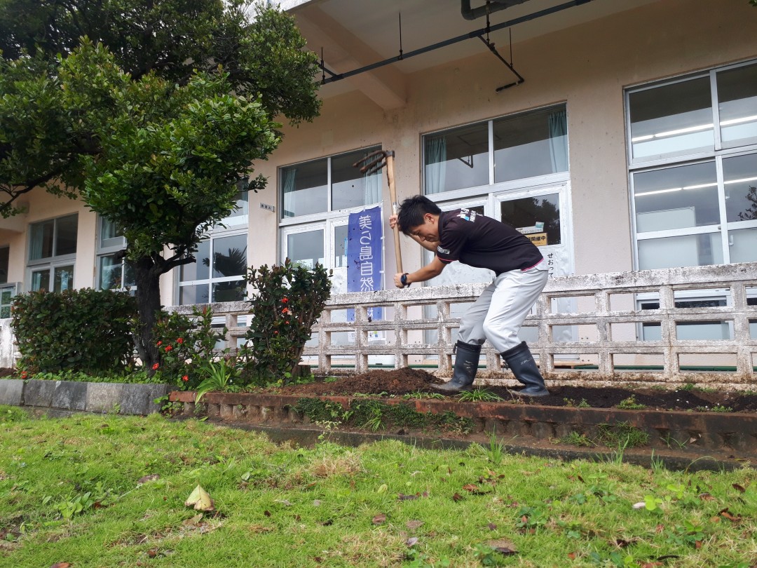
POLYGON ((631 90, 627 104, 637 267, 757 261, 757 64, 631 90))

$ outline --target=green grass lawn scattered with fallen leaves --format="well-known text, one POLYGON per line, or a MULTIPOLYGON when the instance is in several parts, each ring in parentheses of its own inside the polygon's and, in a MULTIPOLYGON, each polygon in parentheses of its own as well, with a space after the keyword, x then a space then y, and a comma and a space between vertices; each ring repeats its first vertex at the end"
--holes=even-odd
POLYGON ((749 568, 755 479, 0 407, 0 566, 749 568))

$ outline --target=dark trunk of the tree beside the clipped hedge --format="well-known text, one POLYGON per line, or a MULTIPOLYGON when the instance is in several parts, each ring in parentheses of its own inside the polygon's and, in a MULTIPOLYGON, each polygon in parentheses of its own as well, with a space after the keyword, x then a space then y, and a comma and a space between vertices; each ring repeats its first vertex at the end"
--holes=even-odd
POLYGON ((137 285, 137 309, 139 322, 135 343, 139 358, 145 370, 153 374, 152 366, 158 362, 157 345, 153 330, 160 311, 160 268, 150 257, 140 258, 134 263, 134 273, 137 285))

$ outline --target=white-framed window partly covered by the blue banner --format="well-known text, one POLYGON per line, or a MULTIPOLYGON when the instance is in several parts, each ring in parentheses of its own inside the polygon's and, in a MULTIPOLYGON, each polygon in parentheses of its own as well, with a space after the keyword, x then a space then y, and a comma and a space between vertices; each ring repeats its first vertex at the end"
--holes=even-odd
POLYGON ((347 220, 382 201, 383 170, 360 173, 353 164, 380 149, 372 146, 279 170, 282 261, 334 269, 335 292, 347 292, 347 220))

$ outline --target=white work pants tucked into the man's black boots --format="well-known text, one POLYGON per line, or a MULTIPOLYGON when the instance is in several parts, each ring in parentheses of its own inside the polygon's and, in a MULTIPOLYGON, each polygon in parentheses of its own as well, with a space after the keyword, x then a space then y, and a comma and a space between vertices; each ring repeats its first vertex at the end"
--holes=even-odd
POLYGON ((457 339, 472 345, 488 339, 497 353, 519 345, 518 331, 544 290, 547 276, 545 261, 497 276, 461 318, 457 339))

